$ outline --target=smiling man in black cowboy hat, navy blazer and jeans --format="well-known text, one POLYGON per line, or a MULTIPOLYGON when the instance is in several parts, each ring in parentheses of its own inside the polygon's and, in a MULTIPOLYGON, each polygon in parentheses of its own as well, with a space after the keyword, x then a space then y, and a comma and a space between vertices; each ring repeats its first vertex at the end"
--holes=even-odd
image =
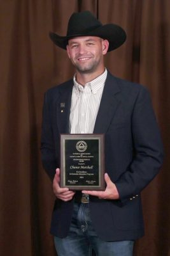
POLYGON ((51 232, 59 256, 132 256, 143 236, 141 191, 159 172, 162 142, 150 96, 104 67, 104 55, 125 42, 115 24, 90 12, 73 13, 67 36, 50 33, 67 50, 74 79, 48 90, 43 108, 41 153, 56 201, 51 232), (60 134, 103 133, 104 191, 60 188, 60 134), (56 170, 56 172, 55 172, 56 170))

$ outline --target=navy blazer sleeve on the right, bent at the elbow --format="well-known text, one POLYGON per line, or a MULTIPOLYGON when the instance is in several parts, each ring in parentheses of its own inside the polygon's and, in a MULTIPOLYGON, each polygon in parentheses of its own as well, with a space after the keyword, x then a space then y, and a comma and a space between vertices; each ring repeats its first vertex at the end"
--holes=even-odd
POLYGON ((115 182, 122 202, 138 196, 162 165, 162 140, 146 88, 142 87, 138 93, 131 123, 134 157, 126 172, 115 182))

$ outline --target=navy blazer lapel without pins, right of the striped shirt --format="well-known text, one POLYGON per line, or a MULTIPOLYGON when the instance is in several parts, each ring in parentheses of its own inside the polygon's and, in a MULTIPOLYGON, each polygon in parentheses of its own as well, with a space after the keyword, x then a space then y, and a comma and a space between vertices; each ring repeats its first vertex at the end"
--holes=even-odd
POLYGON ((104 85, 103 96, 101 98, 101 104, 96 118, 94 126, 94 133, 105 133, 110 125, 115 111, 117 110, 120 102, 117 99, 117 93, 120 92, 120 88, 115 81, 115 78, 108 72, 106 83, 104 85))

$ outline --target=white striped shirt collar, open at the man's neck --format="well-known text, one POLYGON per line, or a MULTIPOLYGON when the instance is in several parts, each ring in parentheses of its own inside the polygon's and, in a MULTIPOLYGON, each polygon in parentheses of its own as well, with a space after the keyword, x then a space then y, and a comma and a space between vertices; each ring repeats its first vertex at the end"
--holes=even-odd
MULTIPOLYGON (((92 90, 92 93, 96 94, 97 91, 99 90, 99 88, 104 86, 107 74, 108 74, 108 71, 105 68, 103 74, 101 74, 100 76, 96 77, 94 80, 90 81, 89 83, 85 84, 85 86, 89 85, 91 90, 92 90)), ((74 88, 76 89, 76 92, 79 93, 80 91, 82 91, 81 88, 83 88, 83 86, 81 84, 77 83, 77 81, 76 81, 76 74, 73 77, 73 81, 74 81, 74 88)))

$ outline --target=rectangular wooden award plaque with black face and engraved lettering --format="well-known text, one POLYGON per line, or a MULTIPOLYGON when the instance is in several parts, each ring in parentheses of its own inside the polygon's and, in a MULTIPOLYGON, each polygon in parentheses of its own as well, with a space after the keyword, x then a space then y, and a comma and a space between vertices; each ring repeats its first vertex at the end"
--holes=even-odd
POLYGON ((104 190, 104 134, 60 135, 60 187, 104 190))

